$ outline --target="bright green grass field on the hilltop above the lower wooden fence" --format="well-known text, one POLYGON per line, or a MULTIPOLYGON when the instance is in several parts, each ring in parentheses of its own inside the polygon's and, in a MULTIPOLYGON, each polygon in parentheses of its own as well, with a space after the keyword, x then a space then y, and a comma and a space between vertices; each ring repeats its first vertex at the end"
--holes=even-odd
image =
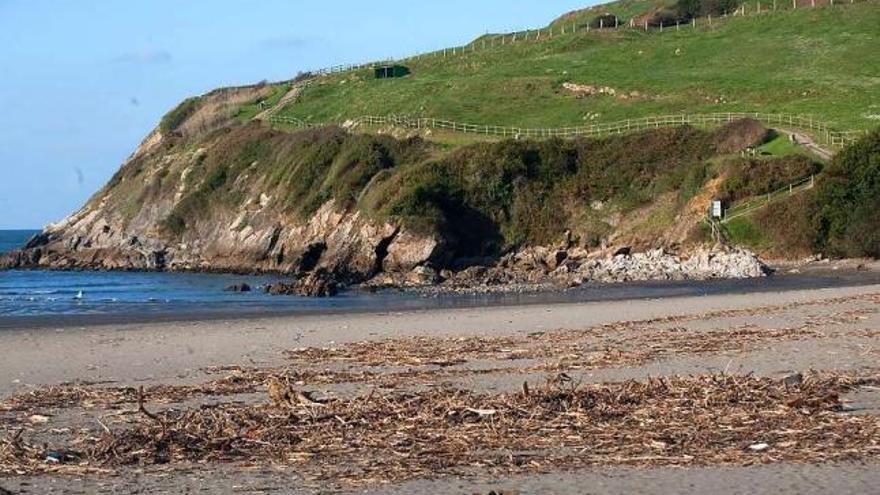
MULTIPOLYGON (((646 5, 604 9, 637 15, 646 5)), ((592 11, 572 18, 578 15, 592 11)), ((541 127, 760 111, 868 129, 880 114, 877 26, 880 6, 868 2, 728 18, 711 28, 580 32, 422 58, 408 63, 412 75, 402 79, 375 80, 369 70, 323 76, 279 115, 320 123, 401 114, 541 127), (578 98, 566 82, 608 86, 617 96, 578 98)))

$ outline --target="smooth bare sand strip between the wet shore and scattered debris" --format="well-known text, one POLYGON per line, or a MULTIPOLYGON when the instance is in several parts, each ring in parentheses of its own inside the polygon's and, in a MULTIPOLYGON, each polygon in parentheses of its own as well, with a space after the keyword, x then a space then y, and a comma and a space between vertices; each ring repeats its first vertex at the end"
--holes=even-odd
POLYGON ((179 381, 202 377, 211 367, 279 365, 285 362, 285 351, 302 347, 415 336, 498 337, 877 292, 880 283, 639 299, 639 304, 622 299, 18 328, 0 332, 0 348, 17 350, 0 361, 0 376, 8 378, 0 382, 0 397, 46 384, 179 381))

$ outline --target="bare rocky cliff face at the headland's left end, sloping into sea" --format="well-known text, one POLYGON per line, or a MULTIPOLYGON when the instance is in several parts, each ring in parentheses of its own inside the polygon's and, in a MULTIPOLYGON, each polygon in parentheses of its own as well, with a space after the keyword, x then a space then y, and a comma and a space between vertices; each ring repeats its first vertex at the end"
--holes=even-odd
POLYGON ((0 266, 293 275, 322 270, 360 282, 383 270, 412 270, 438 252, 434 236, 369 219, 332 198, 306 215, 294 211, 284 202, 285 185, 269 184, 259 160, 242 164, 227 155, 228 140, 240 137, 223 133, 194 144, 154 132, 81 210, 49 225, 23 250, 0 259, 0 266), (207 189, 216 186, 209 184, 218 170, 214 162, 228 160, 240 170, 208 197, 207 189), (169 225, 182 207, 185 225, 169 225))

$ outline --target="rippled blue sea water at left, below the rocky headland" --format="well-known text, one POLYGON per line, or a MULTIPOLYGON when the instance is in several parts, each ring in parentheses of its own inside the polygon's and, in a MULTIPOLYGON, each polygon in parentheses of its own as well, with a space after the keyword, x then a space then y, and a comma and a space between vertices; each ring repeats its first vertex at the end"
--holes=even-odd
MULTIPOLYGON (((0 252, 22 247, 33 230, 0 231, 0 252)), ((200 316, 330 310, 370 307, 381 297, 352 292, 318 300, 265 294, 279 276, 198 273, 89 272, 55 270, 0 271, 0 320, 17 317, 131 315, 200 316), (254 290, 225 292, 247 283, 254 290)))

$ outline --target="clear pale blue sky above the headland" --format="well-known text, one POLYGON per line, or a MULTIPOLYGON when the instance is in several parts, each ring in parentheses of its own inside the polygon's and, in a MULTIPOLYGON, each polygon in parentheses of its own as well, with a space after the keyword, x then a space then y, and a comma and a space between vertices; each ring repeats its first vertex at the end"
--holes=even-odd
POLYGON ((546 25, 596 0, 0 0, 0 229, 96 192, 211 89, 546 25))

